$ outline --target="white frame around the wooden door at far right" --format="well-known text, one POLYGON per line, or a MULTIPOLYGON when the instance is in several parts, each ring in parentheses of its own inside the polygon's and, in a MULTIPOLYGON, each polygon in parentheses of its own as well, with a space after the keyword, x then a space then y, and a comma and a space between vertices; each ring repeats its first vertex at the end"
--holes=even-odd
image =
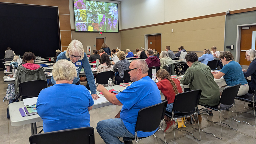
POLYGON ((241 43, 241 30, 242 30, 242 27, 243 26, 251 26, 251 25, 256 25, 256 23, 237 25, 236 62, 238 62, 238 63, 239 63, 239 59, 240 59, 240 43, 241 43))

